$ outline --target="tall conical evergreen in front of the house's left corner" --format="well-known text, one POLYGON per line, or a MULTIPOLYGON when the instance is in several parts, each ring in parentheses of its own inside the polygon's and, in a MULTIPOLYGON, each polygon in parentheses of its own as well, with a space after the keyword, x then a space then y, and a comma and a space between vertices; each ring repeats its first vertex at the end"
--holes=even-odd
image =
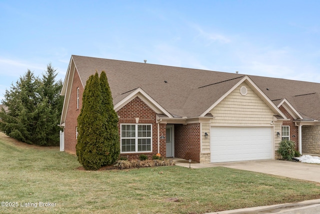
POLYGON ((104 72, 86 82, 77 118, 76 155, 86 170, 97 170, 115 162, 119 155, 117 115, 104 72))

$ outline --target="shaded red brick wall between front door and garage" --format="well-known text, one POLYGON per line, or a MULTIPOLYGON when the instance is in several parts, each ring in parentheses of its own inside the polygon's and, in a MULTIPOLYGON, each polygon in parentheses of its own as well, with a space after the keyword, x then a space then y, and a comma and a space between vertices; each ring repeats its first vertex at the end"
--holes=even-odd
POLYGON ((174 157, 200 162, 200 123, 174 124, 174 157))

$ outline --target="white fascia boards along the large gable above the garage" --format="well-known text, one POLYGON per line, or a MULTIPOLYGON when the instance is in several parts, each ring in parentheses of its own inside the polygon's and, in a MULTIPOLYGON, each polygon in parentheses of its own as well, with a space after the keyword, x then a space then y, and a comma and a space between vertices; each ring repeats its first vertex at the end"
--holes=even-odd
POLYGON ((253 87, 258 92, 258 95, 262 96, 268 102, 268 106, 271 106, 272 110, 274 112, 281 115, 281 117, 283 117, 284 119, 287 119, 285 117, 285 115, 274 105, 274 103, 261 91, 261 89, 248 76, 244 76, 239 82, 237 82, 230 90, 228 90, 223 96, 221 96, 216 102, 214 102, 213 105, 211 105, 200 116, 204 116, 207 113, 209 113, 209 111, 211 111, 211 109, 213 109, 218 103, 220 103, 227 95, 229 95, 233 90, 235 90, 244 81, 247 81, 249 83, 249 86, 253 87))

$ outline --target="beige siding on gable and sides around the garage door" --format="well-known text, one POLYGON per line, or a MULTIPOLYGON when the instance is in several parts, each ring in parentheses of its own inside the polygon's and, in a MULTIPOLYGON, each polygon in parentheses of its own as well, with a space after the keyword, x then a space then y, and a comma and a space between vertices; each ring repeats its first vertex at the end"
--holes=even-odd
POLYGON ((274 120, 273 115, 276 113, 245 82, 228 94, 210 113, 214 117, 211 123, 202 123, 202 153, 210 152, 210 137, 204 137, 204 132, 210 136, 210 126, 272 127, 274 132, 272 144, 274 149, 277 149, 281 137, 277 137, 276 132, 280 132, 280 124, 275 121, 271 123, 274 120), (240 94, 242 86, 247 89, 245 96, 240 94))

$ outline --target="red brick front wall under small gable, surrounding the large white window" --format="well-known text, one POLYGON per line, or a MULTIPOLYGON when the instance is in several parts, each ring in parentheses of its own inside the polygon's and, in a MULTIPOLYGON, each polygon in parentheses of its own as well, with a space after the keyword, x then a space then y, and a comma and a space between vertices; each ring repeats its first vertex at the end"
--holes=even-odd
MULTIPOLYGON (((120 134, 120 124, 121 123, 133 123, 135 124, 135 118, 139 118, 138 123, 151 123, 152 124, 152 152, 145 153, 122 153, 121 157, 126 157, 128 159, 139 159, 139 155, 145 154, 149 159, 152 155, 157 153, 157 123, 156 123, 156 113, 148 107, 140 98, 135 97, 128 104, 123 106, 117 111, 119 118, 118 129, 120 134)), ((165 136, 165 124, 159 124, 159 135, 165 136)), ((160 139, 159 143, 160 154, 165 156, 165 139, 160 139)))

